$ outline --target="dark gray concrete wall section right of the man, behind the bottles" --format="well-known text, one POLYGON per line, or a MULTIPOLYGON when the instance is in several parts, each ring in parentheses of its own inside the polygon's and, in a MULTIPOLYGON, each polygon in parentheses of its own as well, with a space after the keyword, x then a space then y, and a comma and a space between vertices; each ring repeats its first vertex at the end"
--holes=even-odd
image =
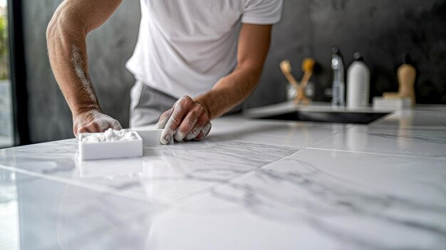
POLYGON ((396 69, 402 53, 409 51, 419 71, 418 102, 446 103, 445 26, 445 0, 284 0, 264 76, 247 106, 285 100, 279 63, 289 59, 300 78, 306 56, 322 66, 313 78, 316 100, 330 100, 323 90, 331 88, 332 46, 341 48, 347 64, 356 51, 363 54, 372 75, 371 96, 398 90, 396 69))

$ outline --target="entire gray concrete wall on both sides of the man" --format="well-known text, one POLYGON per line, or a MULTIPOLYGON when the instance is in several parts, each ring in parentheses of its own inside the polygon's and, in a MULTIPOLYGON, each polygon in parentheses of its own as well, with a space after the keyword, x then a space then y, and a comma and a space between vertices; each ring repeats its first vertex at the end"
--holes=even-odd
MULTIPOLYGON (((46 56, 45 29, 60 1, 23 0, 29 121, 32 142, 72 137, 71 113, 53 79, 46 56)), ((88 37, 93 84, 105 113, 128 125, 128 93, 133 77, 125 70, 138 35, 139 1, 125 0, 118 12, 88 37), (118 100, 118 101, 117 101, 118 100)), ((331 46, 340 46, 346 63, 363 53, 373 75, 371 95, 398 89, 396 68, 403 51, 418 64, 420 103, 446 103, 446 0, 284 0, 284 15, 259 88, 246 107, 286 99, 279 62, 289 59, 300 78, 301 60, 316 58, 322 70, 317 100, 331 87, 331 46)))

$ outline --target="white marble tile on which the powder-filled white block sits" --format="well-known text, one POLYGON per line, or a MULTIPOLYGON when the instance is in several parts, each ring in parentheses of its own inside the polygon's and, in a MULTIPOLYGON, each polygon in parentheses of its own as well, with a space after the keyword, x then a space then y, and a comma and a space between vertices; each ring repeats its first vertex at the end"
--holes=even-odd
POLYGON ((299 151, 248 142, 204 142, 146 146, 144 157, 79 161, 76 140, 6 150, 0 165, 95 187, 137 199, 171 202, 225 182, 299 151))

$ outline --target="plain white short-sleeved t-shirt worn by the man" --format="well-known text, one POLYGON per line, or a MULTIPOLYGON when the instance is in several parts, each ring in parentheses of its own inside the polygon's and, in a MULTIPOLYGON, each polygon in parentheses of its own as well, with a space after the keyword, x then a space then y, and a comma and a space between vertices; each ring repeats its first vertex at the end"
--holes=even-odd
POLYGON ((241 23, 275 24, 283 0, 140 0, 138 43, 127 68, 180 98, 212 88, 237 64, 241 23))

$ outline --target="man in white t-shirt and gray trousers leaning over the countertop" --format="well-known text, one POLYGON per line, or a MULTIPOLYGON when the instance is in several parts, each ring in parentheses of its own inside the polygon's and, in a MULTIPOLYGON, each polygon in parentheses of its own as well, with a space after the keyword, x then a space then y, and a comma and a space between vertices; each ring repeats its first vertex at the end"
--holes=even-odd
MULTIPOLYGON (((88 75, 85 38, 123 0, 66 0, 47 30, 53 73, 71 112, 73 132, 120 129, 102 113, 88 75)), ((210 120, 254 90, 282 0, 140 0, 138 43, 127 68, 130 125, 157 123, 161 142, 202 140, 210 120)))

